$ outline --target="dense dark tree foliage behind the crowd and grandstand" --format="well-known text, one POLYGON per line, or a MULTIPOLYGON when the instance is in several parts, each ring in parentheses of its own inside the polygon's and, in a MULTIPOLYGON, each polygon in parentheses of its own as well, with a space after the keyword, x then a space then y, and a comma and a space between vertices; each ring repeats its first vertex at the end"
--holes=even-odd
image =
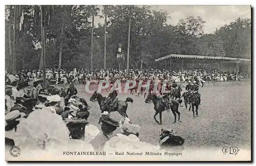
MULTIPOLYGON (((17 31, 17 69, 41 67, 40 22, 33 10, 38 6, 22 6, 24 23, 17 31), (40 44, 39 44, 40 45, 40 44)), ((14 7, 6 6, 6 69, 12 70, 14 7)), ((118 44, 127 50, 129 17, 131 16, 130 68, 153 67, 154 59, 168 54, 251 57, 251 20, 238 18, 229 25, 204 34, 205 21, 189 16, 178 25, 167 25, 168 13, 143 6, 54 6, 53 17, 46 28, 46 66, 88 68, 91 56, 92 17, 107 16, 106 67, 118 68, 118 44)), ((93 32, 93 67, 103 68, 104 25, 93 32)), ((126 63, 122 64, 124 68, 126 63)))

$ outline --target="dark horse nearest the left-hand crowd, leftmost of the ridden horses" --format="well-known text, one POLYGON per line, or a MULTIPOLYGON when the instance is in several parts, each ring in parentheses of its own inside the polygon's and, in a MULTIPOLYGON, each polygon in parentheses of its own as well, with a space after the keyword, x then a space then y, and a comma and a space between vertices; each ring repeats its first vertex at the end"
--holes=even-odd
POLYGON ((108 112, 118 111, 123 117, 128 117, 126 114, 126 110, 127 110, 127 106, 128 106, 127 102, 133 103, 132 98, 126 98, 125 101, 121 101, 121 100, 117 101, 114 104, 114 106, 110 108, 110 106, 106 106, 104 103, 106 100, 106 97, 103 97, 100 93, 97 93, 96 91, 94 91, 92 97, 90 98, 90 101, 95 101, 95 99, 97 99, 97 101, 98 101, 101 113, 103 113, 106 110, 108 110, 108 112))

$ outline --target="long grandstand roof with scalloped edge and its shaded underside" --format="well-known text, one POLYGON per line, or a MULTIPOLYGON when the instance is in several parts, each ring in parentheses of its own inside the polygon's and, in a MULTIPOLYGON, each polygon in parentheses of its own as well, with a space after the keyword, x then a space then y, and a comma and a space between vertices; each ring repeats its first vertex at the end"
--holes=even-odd
POLYGON ((228 62, 228 63, 240 63, 240 62, 251 62, 251 59, 244 59, 244 58, 231 58, 231 57, 210 57, 210 56, 198 56, 198 55, 180 55, 180 54, 170 54, 158 59, 155 59, 155 62, 167 60, 172 58, 173 63, 179 63, 182 59, 185 63, 211 63, 214 61, 216 62, 228 62))

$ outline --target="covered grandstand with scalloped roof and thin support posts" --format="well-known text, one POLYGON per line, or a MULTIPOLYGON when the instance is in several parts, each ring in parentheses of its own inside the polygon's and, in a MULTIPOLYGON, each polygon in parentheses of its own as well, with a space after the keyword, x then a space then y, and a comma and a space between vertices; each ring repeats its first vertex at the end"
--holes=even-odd
POLYGON ((234 71, 239 72, 242 68, 243 72, 250 73, 251 71, 251 59, 244 58, 231 58, 231 57, 212 57, 212 56, 198 56, 198 55, 180 55, 180 54, 170 54, 161 58, 155 59, 155 62, 165 61, 169 63, 169 69, 172 70, 172 64, 181 63, 181 70, 183 70, 183 64, 195 64, 201 63, 202 69, 204 70, 204 64, 211 64, 211 70, 214 63, 218 63, 218 68, 220 72, 225 68, 225 63, 233 64, 234 71))

